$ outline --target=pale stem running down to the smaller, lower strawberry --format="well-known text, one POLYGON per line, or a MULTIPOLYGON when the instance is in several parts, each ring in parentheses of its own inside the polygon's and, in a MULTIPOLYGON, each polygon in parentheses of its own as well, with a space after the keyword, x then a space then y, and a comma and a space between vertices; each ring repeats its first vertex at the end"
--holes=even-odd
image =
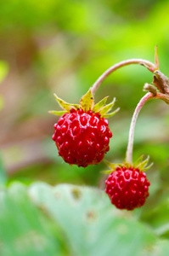
POLYGON ((149 101, 150 98, 155 97, 151 92, 148 92, 144 97, 138 102, 138 106, 136 107, 133 115, 132 115, 132 122, 130 125, 130 131, 128 136, 128 144, 127 144, 127 156, 126 162, 132 164, 132 149, 133 149, 133 140, 134 140, 134 129, 136 125, 136 121, 138 119, 138 113, 140 112, 141 108, 144 106, 144 103, 149 101))

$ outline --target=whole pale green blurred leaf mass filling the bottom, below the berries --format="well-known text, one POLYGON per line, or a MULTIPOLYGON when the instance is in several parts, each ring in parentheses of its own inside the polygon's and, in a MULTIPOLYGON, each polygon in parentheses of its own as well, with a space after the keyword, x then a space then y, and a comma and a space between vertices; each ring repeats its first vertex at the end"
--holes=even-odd
POLYGON ((99 189, 13 183, 1 190, 0 252, 30 255, 167 255, 169 244, 99 189))

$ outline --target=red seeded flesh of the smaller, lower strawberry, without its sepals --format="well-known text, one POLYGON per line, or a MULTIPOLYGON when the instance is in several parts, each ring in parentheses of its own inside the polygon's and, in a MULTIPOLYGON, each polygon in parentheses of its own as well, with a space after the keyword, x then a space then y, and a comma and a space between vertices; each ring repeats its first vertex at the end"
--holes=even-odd
POLYGON ((119 209, 133 210, 142 207, 149 196, 149 181, 144 172, 127 167, 117 167, 105 181, 105 192, 119 209))

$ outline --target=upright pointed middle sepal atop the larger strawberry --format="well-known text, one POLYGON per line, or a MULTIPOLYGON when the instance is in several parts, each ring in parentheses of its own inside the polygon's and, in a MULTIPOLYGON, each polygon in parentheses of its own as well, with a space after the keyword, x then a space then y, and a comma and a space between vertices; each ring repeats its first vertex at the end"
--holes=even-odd
POLYGON ((93 109, 94 106, 94 100, 93 100, 93 94, 91 88, 87 91, 87 93, 82 96, 79 108, 82 108, 84 111, 88 111, 90 109, 93 109))

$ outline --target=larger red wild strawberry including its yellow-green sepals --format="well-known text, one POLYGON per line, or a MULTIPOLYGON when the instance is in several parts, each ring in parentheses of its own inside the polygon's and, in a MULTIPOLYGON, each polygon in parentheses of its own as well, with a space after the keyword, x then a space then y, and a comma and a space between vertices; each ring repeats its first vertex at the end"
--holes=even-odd
POLYGON ((53 140, 59 150, 59 155, 70 165, 86 167, 98 164, 109 151, 112 133, 106 117, 114 115, 110 111, 115 99, 104 106, 107 97, 94 106, 91 90, 82 96, 79 105, 62 101, 55 95, 64 112, 50 111, 61 114, 54 125, 53 140))

